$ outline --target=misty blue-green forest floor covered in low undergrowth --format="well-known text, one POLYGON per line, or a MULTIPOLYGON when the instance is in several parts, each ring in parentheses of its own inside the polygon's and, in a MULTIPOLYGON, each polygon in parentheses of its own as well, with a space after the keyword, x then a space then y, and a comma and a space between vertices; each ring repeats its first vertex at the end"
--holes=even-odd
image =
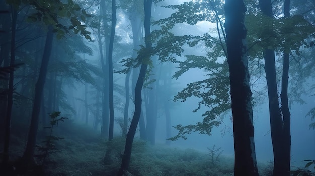
MULTIPOLYGON (((12 129, 11 160, 23 155, 27 134, 24 130, 26 128, 23 126, 12 129)), ((42 133, 40 130, 39 135, 42 133)), ((71 122, 60 124, 54 136, 64 139, 55 143, 57 152, 48 155, 42 175, 34 176, 112 176, 118 171, 124 138, 105 141, 92 129, 71 122)), ((134 176, 233 175, 233 158, 224 156, 224 153, 219 155, 219 152, 212 156, 213 159, 209 152, 164 145, 150 146, 144 141, 135 140, 128 171, 134 176)), ((272 169, 266 164, 259 167, 262 168, 261 175, 268 175, 268 170, 272 169)))

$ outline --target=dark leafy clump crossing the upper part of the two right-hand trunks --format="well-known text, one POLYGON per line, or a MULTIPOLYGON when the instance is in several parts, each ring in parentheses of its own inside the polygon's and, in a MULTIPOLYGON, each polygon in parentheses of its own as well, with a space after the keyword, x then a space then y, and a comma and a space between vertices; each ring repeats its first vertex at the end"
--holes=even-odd
POLYGON ((249 51, 253 50, 249 54, 253 58, 257 55, 254 52, 264 49, 278 49, 283 52, 284 48, 290 48, 295 54, 300 55, 301 46, 310 47, 305 39, 315 34, 313 25, 301 15, 275 19, 261 14, 251 14, 246 19, 249 51))

